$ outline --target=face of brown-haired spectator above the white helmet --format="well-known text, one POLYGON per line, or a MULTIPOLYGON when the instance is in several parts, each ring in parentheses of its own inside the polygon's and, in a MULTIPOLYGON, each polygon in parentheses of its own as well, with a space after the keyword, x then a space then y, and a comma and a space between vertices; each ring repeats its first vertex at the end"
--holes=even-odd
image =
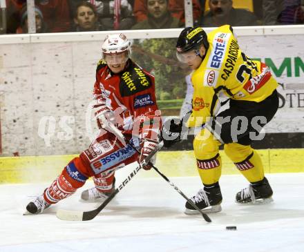
POLYGON ((96 23, 96 15, 88 6, 79 6, 75 23, 83 30, 93 30, 96 23))

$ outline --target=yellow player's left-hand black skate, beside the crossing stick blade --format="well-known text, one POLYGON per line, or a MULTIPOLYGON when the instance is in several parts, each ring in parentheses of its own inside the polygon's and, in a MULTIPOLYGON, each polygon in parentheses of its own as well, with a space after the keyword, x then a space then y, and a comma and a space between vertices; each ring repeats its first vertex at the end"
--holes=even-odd
MULTIPOLYGON (((204 187, 198 191, 198 193, 191 197, 192 202, 202 210, 203 213, 217 213, 222 211, 222 193, 220 192, 220 186, 204 187)), ((186 210, 184 211, 187 215, 199 214, 189 202, 186 202, 186 210)))

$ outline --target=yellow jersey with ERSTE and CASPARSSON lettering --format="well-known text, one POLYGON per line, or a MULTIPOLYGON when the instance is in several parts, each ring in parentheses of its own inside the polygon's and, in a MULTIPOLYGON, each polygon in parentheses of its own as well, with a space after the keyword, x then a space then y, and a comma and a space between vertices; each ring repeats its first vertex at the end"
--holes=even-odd
POLYGON ((215 115, 218 97, 263 101, 278 86, 269 68, 251 60, 238 46, 231 26, 220 26, 208 34, 209 48, 199 68, 191 75, 192 114, 188 126, 200 126, 215 115))

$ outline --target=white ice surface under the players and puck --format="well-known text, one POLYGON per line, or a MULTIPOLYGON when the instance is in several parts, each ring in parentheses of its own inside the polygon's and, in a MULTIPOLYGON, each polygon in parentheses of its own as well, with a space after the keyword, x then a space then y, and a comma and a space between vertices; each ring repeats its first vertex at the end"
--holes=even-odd
MULTIPOLYGON (((117 180, 126 174, 118 171, 117 180)), ((29 196, 41 193, 48 184, 1 185, 0 251, 304 251, 304 173, 267 178, 274 202, 243 206, 234 197, 247 186, 245 178, 222 176, 222 212, 209 215, 211 224, 201 215, 184 215, 184 199, 162 177, 134 177, 88 222, 55 216, 59 208, 94 209, 98 204, 79 202, 82 189, 44 214, 23 216, 29 196), (225 229, 231 225, 237 231, 225 229)), ((201 187, 199 177, 170 179, 189 197, 201 187)), ((91 181, 84 188, 90 186, 91 181)))

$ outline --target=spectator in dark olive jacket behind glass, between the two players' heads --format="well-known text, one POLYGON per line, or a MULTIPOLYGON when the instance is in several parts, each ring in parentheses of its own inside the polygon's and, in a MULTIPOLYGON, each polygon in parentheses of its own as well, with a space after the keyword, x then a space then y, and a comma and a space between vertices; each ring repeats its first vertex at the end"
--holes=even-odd
POLYGON ((147 19, 136 23, 133 30, 179 28, 180 20, 172 17, 168 10, 168 0, 147 0, 147 19))

